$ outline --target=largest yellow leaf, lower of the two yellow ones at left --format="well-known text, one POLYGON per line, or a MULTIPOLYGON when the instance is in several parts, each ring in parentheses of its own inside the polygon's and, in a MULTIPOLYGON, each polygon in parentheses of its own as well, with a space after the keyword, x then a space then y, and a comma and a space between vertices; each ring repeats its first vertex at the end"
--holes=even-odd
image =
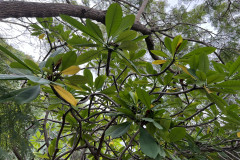
POLYGON ((73 95, 67 90, 63 89, 60 86, 52 85, 55 91, 62 97, 66 102, 70 103, 73 106, 77 105, 77 100, 73 97, 73 95))

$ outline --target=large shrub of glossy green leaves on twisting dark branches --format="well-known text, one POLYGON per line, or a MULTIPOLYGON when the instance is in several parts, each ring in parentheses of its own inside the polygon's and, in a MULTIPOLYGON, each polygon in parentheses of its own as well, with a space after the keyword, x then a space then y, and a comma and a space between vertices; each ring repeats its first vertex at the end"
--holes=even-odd
POLYGON ((211 61, 215 48, 188 50, 178 35, 166 37, 164 49, 151 51, 159 59, 148 62, 139 47, 148 35, 131 30, 134 15, 123 16, 117 3, 108 8, 105 26, 60 17, 68 27, 53 18, 32 25, 40 39, 67 44, 39 65, 0 46, 16 60, 10 64, 15 72, 0 79, 27 83, 0 101, 18 106, 37 100, 46 107, 43 126, 31 138, 35 157, 68 159, 80 152, 85 159, 178 160, 236 154, 229 150, 239 147, 239 58, 225 65, 211 61))

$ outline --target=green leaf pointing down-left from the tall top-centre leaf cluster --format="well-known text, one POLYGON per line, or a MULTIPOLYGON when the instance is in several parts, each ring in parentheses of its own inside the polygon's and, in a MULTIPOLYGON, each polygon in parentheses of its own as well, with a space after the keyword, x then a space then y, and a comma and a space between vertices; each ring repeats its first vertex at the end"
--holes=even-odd
POLYGON ((98 53, 100 51, 91 50, 87 51, 85 53, 82 53, 80 56, 78 56, 76 65, 84 64, 86 62, 90 62, 93 58, 97 57, 98 53))

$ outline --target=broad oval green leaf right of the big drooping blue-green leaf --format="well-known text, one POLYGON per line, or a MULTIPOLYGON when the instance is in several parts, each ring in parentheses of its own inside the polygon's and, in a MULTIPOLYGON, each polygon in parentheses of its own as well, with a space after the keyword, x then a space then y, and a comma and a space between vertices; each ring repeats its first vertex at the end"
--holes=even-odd
POLYGON ((183 127, 175 127, 169 134, 170 142, 176 142, 183 139, 186 135, 186 129, 183 127))

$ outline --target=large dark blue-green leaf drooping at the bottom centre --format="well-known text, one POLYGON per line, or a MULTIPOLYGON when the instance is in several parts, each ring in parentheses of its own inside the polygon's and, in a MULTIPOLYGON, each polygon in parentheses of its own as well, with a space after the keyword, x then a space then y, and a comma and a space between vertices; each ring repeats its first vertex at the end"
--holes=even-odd
POLYGON ((140 127, 140 148, 141 151, 150 158, 156 158, 160 152, 155 139, 142 127, 140 127))

